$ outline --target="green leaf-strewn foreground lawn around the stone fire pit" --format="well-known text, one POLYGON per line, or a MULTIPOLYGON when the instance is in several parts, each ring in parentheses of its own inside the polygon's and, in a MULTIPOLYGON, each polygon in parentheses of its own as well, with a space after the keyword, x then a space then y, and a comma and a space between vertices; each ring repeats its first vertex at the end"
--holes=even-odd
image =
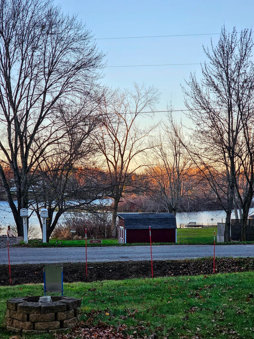
MULTIPOLYGON (((83 298, 81 320, 158 338, 253 338, 253 290, 253 272, 64 284, 65 295, 83 298)), ((3 329, 6 299, 42 294, 42 285, 0 287, 1 339, 11 336, 3 329)))

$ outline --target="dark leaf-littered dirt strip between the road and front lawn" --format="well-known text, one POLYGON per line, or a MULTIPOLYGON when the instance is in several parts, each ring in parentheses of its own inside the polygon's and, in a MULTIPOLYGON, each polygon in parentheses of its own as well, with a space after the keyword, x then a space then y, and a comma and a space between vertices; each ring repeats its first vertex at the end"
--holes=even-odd
MULTIPOLYGON (((57 264, 57 263, 56 263, 57 264)), ((59 265, 59 264, 57 264, 59 265)), ((236 273, 254 270, 254 258, 216 258, 215 273, 236 273)), ((88 263, 87 281, 150 278, 151 261, 112 261, 88 263)), ((86 281, 83 262, 63 263, 64 282, 86 281)), ((12 284, 43 283, 43 264, 11 266, 12 284)), ((155 260, 154 277, 207 275, 213 273, 213 258, 155 260)), ((184 278, 179 278, 184 279, 184 278)), ((0 265, 0 285, 9 285, 9 267, 0 265)), ((70 285, 71 287, 71 285, 70 285)))

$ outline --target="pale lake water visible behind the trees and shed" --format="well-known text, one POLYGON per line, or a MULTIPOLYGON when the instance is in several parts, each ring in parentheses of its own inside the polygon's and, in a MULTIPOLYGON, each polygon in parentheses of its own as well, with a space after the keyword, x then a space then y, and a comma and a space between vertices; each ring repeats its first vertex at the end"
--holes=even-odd
MULTIPOLYGON (((239 212, 238 212, 239 213, 239 212)), ((249 215, 254 213, 254 208, 250 208, 249 215)), ((63 220, 64 215, 62 215, 59 221, 63 220)), ((176 224, 177 227, 183 227, 187 225, 190 221, 196 221, 197 224, 203 225, 217 225, 217 222, 225 222, 226 213, 224 211, 201 211, 201 212, 182 212, 177 213, 176 215, 176 224), (213 220, 211 220, 213 219, 213 220)), ((235 214, 232 213, 232 219, 235 219, 235 214)), ((38 227, 38 237, 41 237, 41 229, 38 218, 34 213, 29 218, 29 222, 35 224, 38 227)), ((0 225, 4 227, 2 233, 6 234, 7 226, 14 223, 12 211, 10 210, 9 204, 7 201, 0 201, 0 225)))

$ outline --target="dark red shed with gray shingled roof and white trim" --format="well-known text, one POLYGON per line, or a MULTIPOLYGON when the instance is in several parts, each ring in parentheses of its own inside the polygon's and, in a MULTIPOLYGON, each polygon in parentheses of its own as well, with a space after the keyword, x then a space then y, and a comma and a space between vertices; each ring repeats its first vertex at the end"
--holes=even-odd
POLYGON ((176 219, 172 213, 118 213, 118 243, 176 242, 176 219))

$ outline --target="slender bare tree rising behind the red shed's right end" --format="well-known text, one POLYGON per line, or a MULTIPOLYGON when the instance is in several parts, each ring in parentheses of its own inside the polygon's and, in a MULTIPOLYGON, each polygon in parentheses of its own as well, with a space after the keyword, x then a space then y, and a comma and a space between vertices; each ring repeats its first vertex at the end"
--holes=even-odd
POLYGON ((151 198, 168 213, 176 215, 181 210, 183 200, 189 200, 194 181, 191 180, 193 161, 186 152, 181 123, 168 114, 169 123, 160 125, 157 137, 150 141, 152 152, 149 156, 147 172, 151 180, 151 198))

